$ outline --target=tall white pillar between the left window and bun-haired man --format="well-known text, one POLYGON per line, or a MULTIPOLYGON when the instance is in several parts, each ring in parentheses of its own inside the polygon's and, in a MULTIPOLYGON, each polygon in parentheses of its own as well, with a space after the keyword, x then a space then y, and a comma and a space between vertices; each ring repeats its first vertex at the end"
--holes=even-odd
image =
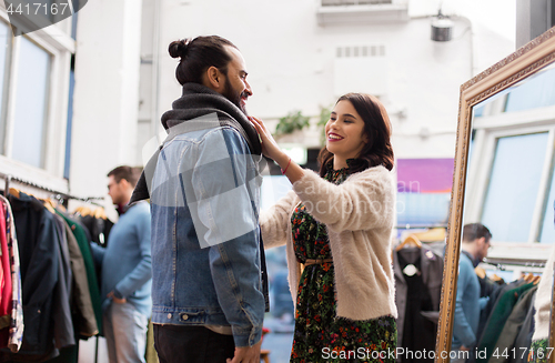
POLYGON ((141 11, 137 1, 97 0, 79 12, 73 194, 105 195, 105 174, 120 164, 135 163, 141 11))

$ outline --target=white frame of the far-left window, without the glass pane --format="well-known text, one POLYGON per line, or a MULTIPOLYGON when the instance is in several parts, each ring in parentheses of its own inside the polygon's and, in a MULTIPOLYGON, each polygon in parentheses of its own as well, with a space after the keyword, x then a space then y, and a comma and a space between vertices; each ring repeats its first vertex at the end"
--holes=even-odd
MULTIPOLYGON (((0 19, 10 27, 10 19, 0 2, 0 19)), ((16 27, 17 23, 14 22, 16 27)), ((69 82, 71 54, 75 51, 75 41, 71 38, 71 17, 48 28, 12 37, 9 62, 8 102, 6 104, 4 150, 0 155, 0 172, 14 175, 51 190, 68 192, 68 181, 63 179, 65 158, 65 132, 68 123, 69 82), (14 129, 14 94, 18 74, 18 57, 21 37, 50 54, 50 74, 47 91, 46 137, 43 145, 43 168, 39 169, 11 158, 14 129)))

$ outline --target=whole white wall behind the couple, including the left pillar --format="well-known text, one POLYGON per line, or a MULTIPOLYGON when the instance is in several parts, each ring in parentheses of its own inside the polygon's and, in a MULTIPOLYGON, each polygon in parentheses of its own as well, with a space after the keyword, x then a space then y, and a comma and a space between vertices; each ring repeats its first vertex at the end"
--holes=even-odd
MULTIPOLYGON (((514 0, 486 2, 444 1, 444 12, 458 17, 454 39, 444 43, 430 39, 428 16, 437 8, 431 0, 412 0, 408 22, 327 27, 317 24, 316 0, 159 0, 159 16, 154 0, 143 0, 142 9, 130 0, 90 2, 78 22, 71 191, 105 195, 105 172, 141 162, 161 113, 181 94, 168 44, 199 34, 220 34, 241 49, 254 91, 248 109, 270 125, 290 111, 316 117, 333 104, 337 47, 384 46, 385 65, 361 72, 386 80, 382 100, 397 158, 453 157, 460 85, 514 47, 507 37, 514 13, 506 10, 514 0), (477 21, 471 28, 463 17, 477 21)), ((317 131, 292 140, 315 147, 317 131)))

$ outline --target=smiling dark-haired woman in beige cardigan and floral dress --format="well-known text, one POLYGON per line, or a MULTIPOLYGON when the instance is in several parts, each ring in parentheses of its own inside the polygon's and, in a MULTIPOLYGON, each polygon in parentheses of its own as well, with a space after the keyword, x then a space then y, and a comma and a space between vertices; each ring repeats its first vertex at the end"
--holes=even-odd
POLYGON ((320 175, 294 163, 251 118, 264 155, 293 184, 260 216, 265 248, 286 244, 296 301, 292 362, 394 362, 391 124, 374 97, 341 97, 325 125, 320 175))

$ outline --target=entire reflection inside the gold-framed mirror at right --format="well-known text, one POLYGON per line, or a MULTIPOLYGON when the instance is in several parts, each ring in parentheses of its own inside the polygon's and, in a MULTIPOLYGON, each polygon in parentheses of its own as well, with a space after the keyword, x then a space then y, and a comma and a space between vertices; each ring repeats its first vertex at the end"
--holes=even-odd
POLYGON ((549 356, 554 84, 549 65, 473 108, 451 362, 549 356))

